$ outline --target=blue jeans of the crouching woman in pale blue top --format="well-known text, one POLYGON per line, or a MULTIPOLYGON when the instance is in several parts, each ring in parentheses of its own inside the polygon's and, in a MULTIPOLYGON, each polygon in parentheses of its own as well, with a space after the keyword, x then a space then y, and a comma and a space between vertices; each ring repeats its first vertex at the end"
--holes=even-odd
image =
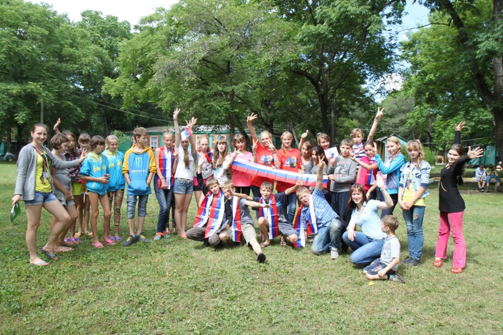
POLYGON ((369 265, 381 256, 385 238, 370 239, 364 233, 355 231, 355 239, 350 241, 348 232, 345 231, 343 240, 353 249, 353 254, 349 258, 351 263, 363 266, 369 265))

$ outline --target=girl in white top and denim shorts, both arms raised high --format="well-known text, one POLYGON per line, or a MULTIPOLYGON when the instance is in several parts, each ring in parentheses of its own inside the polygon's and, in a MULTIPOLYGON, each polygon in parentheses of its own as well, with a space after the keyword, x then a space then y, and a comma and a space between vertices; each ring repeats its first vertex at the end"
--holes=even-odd
POLYGON ((187 238, 185 225, 187 223, 187 212, 192 200, 192 193, 194 192, 194 167, 195 162, 197 162, 196 140, 195 136, 192 135, 192 127, 196 125, 197 119, 192 118, 190 122, 187 122, 187 128, 182 136, 180 134, 180 127, 178 126, 178 113, 180 113, 180 110, 177 108, 173 112, 173 121, 175 121, 175 148, 178 154, 175 187, 173 189, 173 193, 175 194, 175 221, 178 236, 187 238), (191 148, 190 153, 189 144, 191 148))

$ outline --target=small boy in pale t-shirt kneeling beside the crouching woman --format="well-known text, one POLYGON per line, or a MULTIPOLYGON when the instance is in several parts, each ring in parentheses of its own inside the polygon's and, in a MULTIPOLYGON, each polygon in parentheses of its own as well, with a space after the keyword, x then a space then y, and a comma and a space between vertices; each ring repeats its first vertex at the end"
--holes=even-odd
POLYGON ((400 241, 395 236, 398 220, 393 215, 381 219, 381 230, 386 233, 386 240, 381 250, 381 257, 363 269, 368 280, 387 279, 405 284, 402 276, 396 273, 400 263, 400 241))

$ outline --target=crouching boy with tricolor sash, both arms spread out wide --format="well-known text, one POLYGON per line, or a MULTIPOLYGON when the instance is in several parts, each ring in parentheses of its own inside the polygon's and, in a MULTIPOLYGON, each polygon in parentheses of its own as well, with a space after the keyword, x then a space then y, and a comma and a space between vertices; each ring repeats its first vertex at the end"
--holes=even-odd
POLYGON ((260 245, 262 248, 271 245, 271 239, 281 236, 281 245, 286 245, 284 236, 294 244, 297 242, 299 235, 297 230, 293 228, 292 222, 288 221, 286 210, 288 208, 288 195, 295 192, 301 186, 300 183, 288 188, 285 192, 276 194, 273 193, 273 184, 264 182, 260 186, 260 194, 262 197, 250 197, 247 194, 235 193, 238 198, 246 199, 248 201, 255 201, 261 205, 267 204, 259 210, 259 228, 262 233, 264 241, 260 245))

